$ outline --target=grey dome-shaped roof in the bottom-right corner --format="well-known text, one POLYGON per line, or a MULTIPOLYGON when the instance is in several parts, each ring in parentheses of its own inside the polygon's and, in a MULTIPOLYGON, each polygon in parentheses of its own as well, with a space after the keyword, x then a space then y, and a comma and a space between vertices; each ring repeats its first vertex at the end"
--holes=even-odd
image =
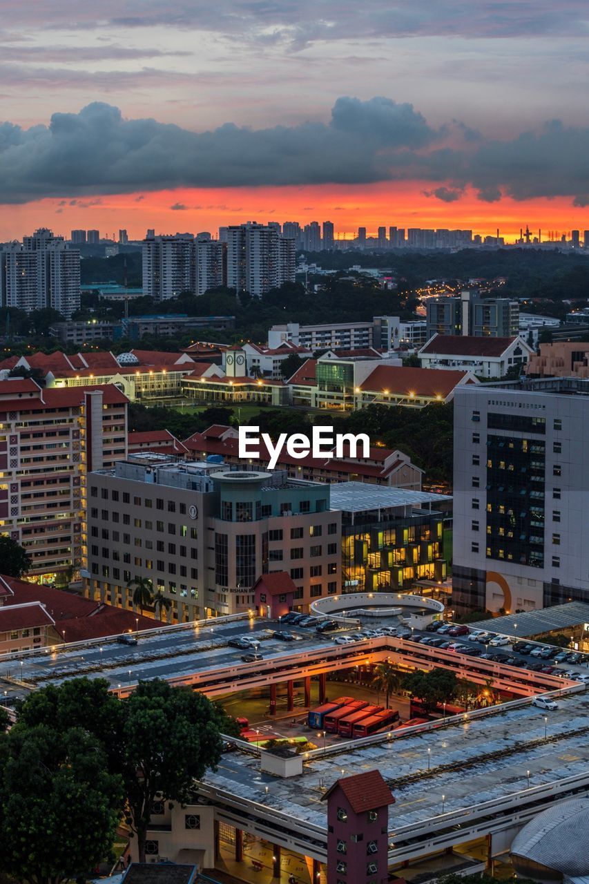
POLYGON ((570 798, 530 820, 511 844, 521 858, 567 876, 589 874, 589 798, 570 798), (574 845, 574 847, 573 847, 574 845))

